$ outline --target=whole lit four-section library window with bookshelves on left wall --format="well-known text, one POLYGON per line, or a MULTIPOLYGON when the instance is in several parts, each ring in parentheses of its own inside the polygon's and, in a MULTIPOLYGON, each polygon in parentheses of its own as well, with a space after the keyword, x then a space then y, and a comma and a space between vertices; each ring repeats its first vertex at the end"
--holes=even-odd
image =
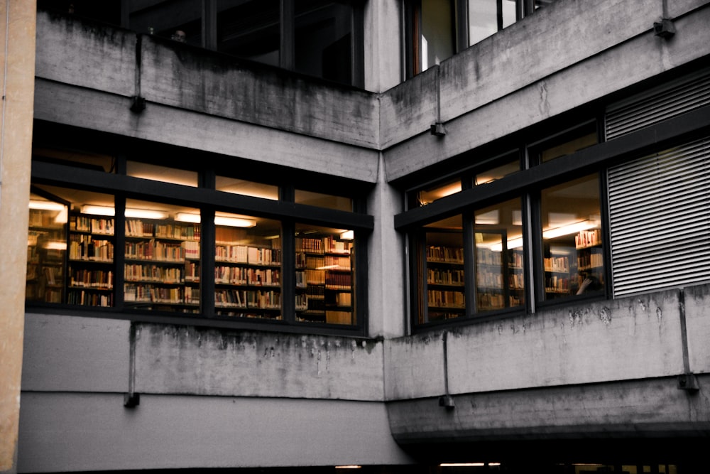
POLYGON ((174 167, 35 152, 28 307, 363 330, 359 242, 373 220, 353 212, 356 183, 333 195, 295 190, 293 173, 261 183, 263 171, 180 168, 172 152, 174 167))

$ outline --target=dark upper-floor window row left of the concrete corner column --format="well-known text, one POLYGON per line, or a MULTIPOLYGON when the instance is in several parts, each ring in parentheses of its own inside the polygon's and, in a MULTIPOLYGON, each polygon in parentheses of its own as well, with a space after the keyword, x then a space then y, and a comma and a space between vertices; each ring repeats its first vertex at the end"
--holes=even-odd
POLYGON ((40 0, 43 9, 94 18, 362 87, 362 6, 356 0, 40 0))

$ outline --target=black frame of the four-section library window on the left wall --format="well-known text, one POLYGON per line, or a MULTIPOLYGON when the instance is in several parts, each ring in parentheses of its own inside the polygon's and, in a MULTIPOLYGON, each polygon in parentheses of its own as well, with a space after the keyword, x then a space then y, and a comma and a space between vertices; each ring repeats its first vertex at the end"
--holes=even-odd
MULTIPOLYGON (((114 252, 113 262, 116 271, 114 278, 114 306, 77 306, 68 303, 26 301, 27 311, 52 311, 52 313, 71 314, 72 316, 98 316, 128 319, 130 321, 251 328, 292 333, 367 335, 367 242, 374 227, 374 219, 372 215, 367 215, 364 212, 368 190, 368 186, 364 185, 364 183, 354 182, 346 178, 329 177, 327 191, 332 190, 335 185, 339 184, 339 194, 343 195, 345 191, 345 194, 354 200, 354 211, 346 212, 344 210, 332 210, 293 203, 293 192, 290 193, 291 199, 288 200, 288 190, 291 189, 293 191, 292 181, 294 178, 304 179, 310 183, 320 181, 320 176, 315 176, 315 173, 307 171, 280 169, 277 165, 270 166, 267 163, 247 163, 241 158, 217 156, 214 153, 180 149, 176 146, 153 144, 139 139, 111 136, 102 132, 75 129, 71 126, 60 126, 41 121, 35 121, 34 145, 42 149, 80 149, 81 151, 90 152, 111 150, 110 154, 116 157, 116 173, 74 166, 72 163, 57 163, 52 160, 35 159, 35 156, 33 156, 31 183, 38 186, 52 185, 113 195, 115 203, 114 229, 116 229, 116 232, 114 232, 114 248, 116 249, 124 248, 125 235, 122 230, 125 222, 124 209, 126 207, 126 199, 185 205, 199 209, 202 215, 202 258, 200 269, 202 274, 200 279, 202 298, 200 301, 200 313, 195 314, 128 310, 124 306, 124 296, 123 291, 121 291, 124 287, 124 271, 122 270, 124 268, 124 254, 121 251, 116 251, 114 252), (77 144, 82 144, 82 146, 79 147, 77 144), (156 150, 160 151, 160 153, 154 154, 156 150), (193 171, 199 172, 200 182, 198 187, 162 181, 148 181, 142 178, 126 176, 125 163, 127 159, 151 163, 151 156, 171 156, 173 161, 170 163, 203 163, 201 167, 194 164, 192 166, 193 171), (189 158, 190 156, 192 158, 189 158), (236 169, 249 170, 244 175, 240 174, 240 177, 244 179, 263 182, 263 180, 258 179, 258 176, 264 176, 265 170, 271 170, 272 173, 266 176, 271 176, 271 183, 278 183, 280 186, 280 200, 255 198, 249 195, 226 193, 214 189, 215 171, 218 171, 221 175, 223 171, 220 168, 220 163, 224 167, 224 161, 227 160, 229 160, 230 165, 233 163, 245 165, 234 167, 236 169), (337 183, 334 183, 335 181, 337 183), (214 257, 207 257, 209 255, 214 256, 215 226, 214 220, 206 217, 214 215, 216 211, 266 217, 280 222, 283 254, 280 287, 282 320, 234 318, 215 315, 214 298, 209 297, 214 294, 215 259, 214 257), (293 264, 294 257, 292 254, 295 251, 293 230, 297 222, 354 230, 354 264, 356 268, 354 274, 356 284, 352 294, 352 298, 354 298, 354 324, 343 325, 296 320, 294 306, 296 289, 295 284, 293 284, 294 275, 292 275, 292 273, 295 273, 295 264, 293 264)), ((158 164, 164 163, 167 163, 167 161, 161 163, 158 160, 158 164)), ((310 184, 309 188, 318 189, 317 184, 310 184)))

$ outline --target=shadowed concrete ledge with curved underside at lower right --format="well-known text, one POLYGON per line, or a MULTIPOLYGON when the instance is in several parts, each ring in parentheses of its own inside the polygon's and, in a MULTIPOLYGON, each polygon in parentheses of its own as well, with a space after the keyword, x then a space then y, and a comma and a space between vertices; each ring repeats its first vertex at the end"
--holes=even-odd
POLYGON ((710 376, 700 392, 675 377, 388 402, 398 443, 710 436, 710 376))

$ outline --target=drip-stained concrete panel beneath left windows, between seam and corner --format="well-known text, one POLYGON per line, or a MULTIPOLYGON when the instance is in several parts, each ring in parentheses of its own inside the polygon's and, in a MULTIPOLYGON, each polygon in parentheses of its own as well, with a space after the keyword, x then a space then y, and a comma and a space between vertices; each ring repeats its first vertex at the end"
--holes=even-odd
POLYGON ((382 342, 140 324, 136 391, 381 401, 382 342))

